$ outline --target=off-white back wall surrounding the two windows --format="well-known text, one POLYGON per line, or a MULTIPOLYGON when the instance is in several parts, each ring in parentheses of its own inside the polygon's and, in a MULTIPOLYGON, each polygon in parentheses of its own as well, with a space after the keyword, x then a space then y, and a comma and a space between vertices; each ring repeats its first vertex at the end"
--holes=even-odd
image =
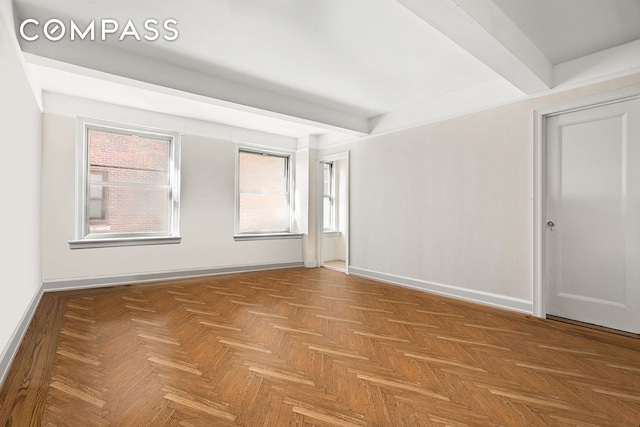
POLYGON ((74 118, 44 115, 45 284, 99 276, 302 262, 301 239, 234 241, 235 145, 190 134, 182 136, 181 244, 69 249, 75 221, 75 131, 74 118))

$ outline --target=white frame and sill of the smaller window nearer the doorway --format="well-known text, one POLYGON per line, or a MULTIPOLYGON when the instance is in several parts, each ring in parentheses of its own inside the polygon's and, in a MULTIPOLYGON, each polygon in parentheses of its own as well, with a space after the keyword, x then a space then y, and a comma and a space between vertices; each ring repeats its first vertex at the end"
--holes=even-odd
POLYGON ((280 151, 273 149, 264 149, 262 147, 252 147, 248 145, 236 146, 236 173, 235 173, 235 223, 233 238, 236 241, 242 240, 269 240, 269 239, 296 239, 302 238, 302 234, 293 232, 294 204, 293 204, 293 188, 295 175, 294 153, 290 151, 280 151), (240 153, 253 153, 265 156, 276 156, 287 159, 287 205, 288 205, 288 222, 287 231, 280 232, 244 232, 239 231, 240 226, 240 153))

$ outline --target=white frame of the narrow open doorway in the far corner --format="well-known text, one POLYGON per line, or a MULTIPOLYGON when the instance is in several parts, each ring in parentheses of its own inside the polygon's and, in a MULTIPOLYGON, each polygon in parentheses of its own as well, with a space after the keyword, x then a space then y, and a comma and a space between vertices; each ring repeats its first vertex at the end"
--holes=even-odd
POLYGON ((349 215, 349 205, 351 196, 349 194, 351 185, 351 173, 349 171, 350 168, 350 153, 349 151, 344 151, 340 153, 330 154, 327 156, 322 156, 317 159, 316 163, 316 262, 318 267, 322 267, 324 260, 322 259, 322 244, 324 240, 324 168, 323 164, 328 162, 333 162, 336 160, 345 160, 345 168, 346 168, 346 206, 345 209, 345 233, 344 233, 344 244, 345 244, 345 262, 344 262, 344 272, 345 274, 349 274, 349 235, 350 235, 350 215, 349 215))

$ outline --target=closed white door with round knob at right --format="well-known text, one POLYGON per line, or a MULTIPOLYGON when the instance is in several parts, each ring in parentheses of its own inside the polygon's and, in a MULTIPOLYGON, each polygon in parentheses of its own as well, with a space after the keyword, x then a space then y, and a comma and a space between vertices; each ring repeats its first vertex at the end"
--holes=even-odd
POLYGON ((547 314, 640 333, 640 100, 547 118, 547 314))

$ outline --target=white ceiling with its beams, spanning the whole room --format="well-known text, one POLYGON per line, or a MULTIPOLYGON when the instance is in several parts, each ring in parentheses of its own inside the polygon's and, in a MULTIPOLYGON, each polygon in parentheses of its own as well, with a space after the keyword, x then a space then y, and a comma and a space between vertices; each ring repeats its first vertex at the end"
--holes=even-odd
POLYGON ((46 91, 331 141, 633 71, 616 46, 640 56, 637 0, 13 3, 17 23, 178 21, 173 42, 20 40, 46 91))

